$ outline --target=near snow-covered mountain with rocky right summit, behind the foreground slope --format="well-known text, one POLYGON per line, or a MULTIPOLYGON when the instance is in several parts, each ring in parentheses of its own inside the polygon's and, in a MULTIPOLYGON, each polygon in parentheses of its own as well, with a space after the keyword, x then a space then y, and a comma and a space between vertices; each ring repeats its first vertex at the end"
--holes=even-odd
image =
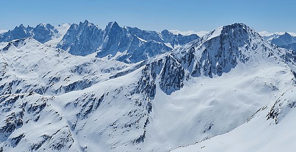
MULTIPOLYGON (((114 24, 104 48, 129 29, 114 24)), ((76 28, 84 27, 69 30, 76 28)), ((255 133, 274 132, 295 112, 294 52, 241 23, 135 64, 70 55, 32 38, 0 50, 3 151, 168 151, 247 124, 255 133)))

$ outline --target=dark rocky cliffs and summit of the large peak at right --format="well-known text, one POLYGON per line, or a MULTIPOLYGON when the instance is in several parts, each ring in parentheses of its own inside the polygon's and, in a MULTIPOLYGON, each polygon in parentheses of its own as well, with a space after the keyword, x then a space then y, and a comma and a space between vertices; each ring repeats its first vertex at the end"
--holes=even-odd
POLYGON ((251 27, 235 23, 221 26, 201 39, 151 58, 146 66, 152 69, 151 75, 160 75, 158 80, 152 77, 153 82, 158 81, 160 89, 171 94, 181 89, 183 83, 192 77, 220 77, 238 64, 247 68, 263 60, 275 62, 278 52, 274 51, 251 27))

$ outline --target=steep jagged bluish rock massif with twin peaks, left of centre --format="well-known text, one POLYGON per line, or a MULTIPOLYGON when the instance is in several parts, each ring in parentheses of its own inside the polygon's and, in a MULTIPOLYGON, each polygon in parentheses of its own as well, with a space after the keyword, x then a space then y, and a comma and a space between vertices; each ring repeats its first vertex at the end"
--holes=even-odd
POLYGON ((167 30, 160 33, 120 27, 116 22, 110 22, 105 29, 101 29, 86 20, 79 25, 72 24, 57 47, 73 55, 86 56, 98 52, 99 58, 135 63, 198 38, 196 34, 183 36, 167 30))

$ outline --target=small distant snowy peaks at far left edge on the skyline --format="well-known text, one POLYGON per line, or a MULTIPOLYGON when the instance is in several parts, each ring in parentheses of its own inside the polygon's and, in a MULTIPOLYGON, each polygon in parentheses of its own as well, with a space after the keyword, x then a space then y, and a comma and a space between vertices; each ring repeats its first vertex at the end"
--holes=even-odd
MULTIPOLYGON (((69 26, 63 24, 63 26, 69 26)), ((16 26, 13 30, 0 33, 0 42, 10 42, 17 39, 26 37, 33 37, 40 43, 46 43, 50 40, 58 39, 63 36, 62 31, 59 30, 60 26, 53 26, 51 24, 40 23, 36 27, 25 27, 23 24, 16 26)))

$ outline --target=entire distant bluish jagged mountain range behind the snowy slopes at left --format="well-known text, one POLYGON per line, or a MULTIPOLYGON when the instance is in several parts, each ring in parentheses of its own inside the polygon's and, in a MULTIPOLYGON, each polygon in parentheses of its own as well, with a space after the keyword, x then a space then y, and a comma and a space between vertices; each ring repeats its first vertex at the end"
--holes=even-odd
POLYGON ((196 34, 173 34, 168 30, 148 31, 137 27, 120 27, 110 22, 105 29, 85 20, 72 24, 66 33, 59 26, 41 23, 36 27, 24 27, 22 24, 0 34, 0 42, 33 37, 40 43, 46 43, 62 36, 56 48, 66 50, 72 55, 86 56, 97 52, 97 57, 114 59, 125 63, 136 63, 157 54, 189 43, 199 38, 196 34))

